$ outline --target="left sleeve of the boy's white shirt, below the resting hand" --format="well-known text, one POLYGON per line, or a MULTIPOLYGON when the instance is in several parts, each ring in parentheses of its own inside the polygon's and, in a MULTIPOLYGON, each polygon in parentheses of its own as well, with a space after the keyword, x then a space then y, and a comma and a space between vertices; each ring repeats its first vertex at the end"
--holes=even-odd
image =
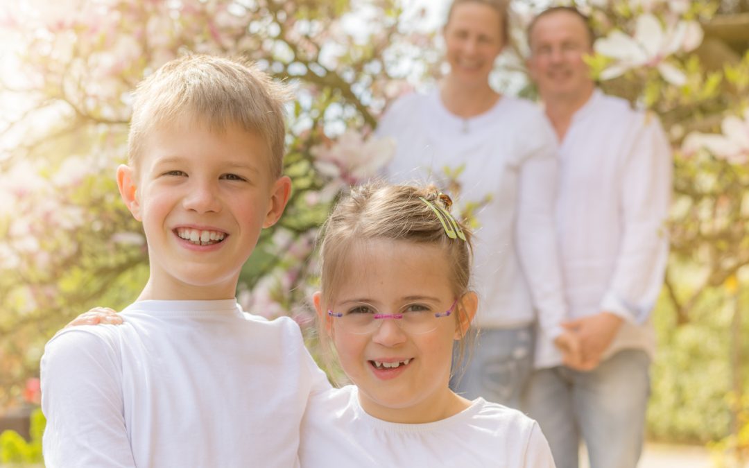
POLYGON ((103 338, 80 329, 46 344, 41 388, 47 467, 135 467, 116 356, 103 338))

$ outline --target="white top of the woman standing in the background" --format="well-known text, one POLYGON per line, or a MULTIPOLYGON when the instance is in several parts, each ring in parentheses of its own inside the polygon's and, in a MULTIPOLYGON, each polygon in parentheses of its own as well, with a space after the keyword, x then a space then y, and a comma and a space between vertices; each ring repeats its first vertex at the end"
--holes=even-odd
POLYGON ((476 324, 533 323, 555 338, 567 318, 557 240, 557 139, 530 101, 503 96, 474 118, 449 112, 437 90, 407 94, 380 121, 395 139, 390 180, 429 181, 452 196, 454 213, 475 212, 476 324), (453 174, 458 186, 449 184, 453 174))

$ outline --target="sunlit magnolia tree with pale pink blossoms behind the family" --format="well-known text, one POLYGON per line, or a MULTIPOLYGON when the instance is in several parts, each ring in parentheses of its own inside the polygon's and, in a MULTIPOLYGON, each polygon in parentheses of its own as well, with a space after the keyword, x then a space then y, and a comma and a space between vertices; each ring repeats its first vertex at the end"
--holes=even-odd
MULTIPOLYGON (((599 35, 588 61, 601 87, 658 115, 673 143, 673 255, 657 317, 665 328, 699 324, 706 301, 730 306, 716 291, 730 285, 738 297, 746 282, 749 55, 704 66, 703 25, 717 1, 579 3, 599 35)), ((529 5, 515 35, 538 6, 529 5)), ((0 407, 19 400, 55 330, 91 306, 127 305, 144 284, 145 238, 113 174, 127 156, 130 90, 182 53, 252 58, 294 88, 285 161, 294 192, 243 269, 238 297, 309 327, 318 226, 342 190, 391 157, 392 142, 372 137, 388 101, 440 70, 434 32, 413 31, 414 19, 395 0, 38 0, 0 10, 18 65, 0 90, 13 103, 0 117, 0 407)), ((656 363, 664 377, 654 397, 676 410, 688 403, 668 398, 684 382, 669 362, 656 363)), ((652 432, 720 437, 729 403, 711 389, 709 431, 696 422, 682 434, 688 423, 658 425, 667 418, 658 415, 652 432)))

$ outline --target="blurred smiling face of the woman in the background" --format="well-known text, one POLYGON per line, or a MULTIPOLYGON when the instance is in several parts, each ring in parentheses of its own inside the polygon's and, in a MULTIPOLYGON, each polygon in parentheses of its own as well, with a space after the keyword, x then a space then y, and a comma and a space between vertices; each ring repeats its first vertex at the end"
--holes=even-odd
POLYGON ((462 85, 487 85, 504 47, 501 14, 478 2, 455 5, 443 31, 450 76, 462 85))

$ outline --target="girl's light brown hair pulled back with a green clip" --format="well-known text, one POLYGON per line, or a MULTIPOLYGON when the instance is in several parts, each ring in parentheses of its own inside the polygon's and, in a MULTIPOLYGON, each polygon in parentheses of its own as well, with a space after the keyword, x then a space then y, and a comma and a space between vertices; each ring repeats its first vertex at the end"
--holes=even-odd
MULTIPOLYGON (((437 214, 420 198, 449 213, 452 201, 431 185, 388 185, 373 182, 352 188, 349 195, 339 200, 321 231, 321 302, 324 307, 333 303, 336 285, 347 274, 345 264, 351 261, 351 252, 367 240, 402 240, 438 246, 445 253, 449 264, 452 294, 460 298, 470 291, 473 247, 469 229, 455 219, 465 240, 448 237, 437 214)), ((443 219, 449 223, 449 219, 444 216, 443 219)), ((456 311, 458 323, 463 323, 465 312, 460 306, 456 311)), ((320 322, 321 339, 325 341, 325 320, 320 322)), ((467 341, 471 341, 469 335, 470 332, 467 332, 461 340, 458 362, 462 362, 466 356, 467 341)), ((325 348, 330 350, 329 345, 325 348)), ((327 363, 330 364, 330 359, 327 363)))

